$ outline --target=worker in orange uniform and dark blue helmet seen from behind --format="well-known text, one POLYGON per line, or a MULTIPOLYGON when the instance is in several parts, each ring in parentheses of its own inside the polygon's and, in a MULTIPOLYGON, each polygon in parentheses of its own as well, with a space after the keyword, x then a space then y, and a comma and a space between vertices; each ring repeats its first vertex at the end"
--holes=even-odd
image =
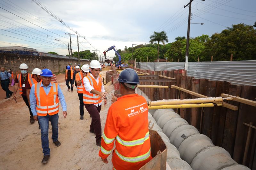
POLYGON ((123 70, 118 78, 122 97, 116 98, 108 109, 99 156, 108 163, 114 146, 113 169, 140 169, 151 157, 148 132, 148 105, 135 93, 139 76, 133 69, 123 70))

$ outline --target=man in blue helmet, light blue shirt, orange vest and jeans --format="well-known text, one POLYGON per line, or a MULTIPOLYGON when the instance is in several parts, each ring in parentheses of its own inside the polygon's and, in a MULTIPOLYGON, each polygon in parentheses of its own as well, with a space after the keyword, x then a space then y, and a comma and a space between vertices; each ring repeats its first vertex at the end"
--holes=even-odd
POLYGON ((58 140, 59 101, 64 118, 67 116, 67 105, 60 86, 57 83, 51 82, 52 71, 43 69, 40 76, 42 82, 32 85, 29 99, 34 119, 39 121, 41 127, 41 142, 44 153, 42 163, 44 164, 50 158, 48 140, 49 120, 51 120, 52 124, 52 141, 56 146, 60 146, 61 143, 58 140))

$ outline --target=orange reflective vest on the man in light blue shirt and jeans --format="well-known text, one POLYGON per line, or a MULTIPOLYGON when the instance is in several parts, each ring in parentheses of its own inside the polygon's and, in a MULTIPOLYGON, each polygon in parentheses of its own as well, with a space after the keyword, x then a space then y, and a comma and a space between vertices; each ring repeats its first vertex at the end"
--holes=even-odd
POLYGON ((46 95, 43 86, 40 87, 41 83, 35 84, 37 115, 55 115, 59 112, 58 84, 51 82, 52 86, 50 92, 46 95))

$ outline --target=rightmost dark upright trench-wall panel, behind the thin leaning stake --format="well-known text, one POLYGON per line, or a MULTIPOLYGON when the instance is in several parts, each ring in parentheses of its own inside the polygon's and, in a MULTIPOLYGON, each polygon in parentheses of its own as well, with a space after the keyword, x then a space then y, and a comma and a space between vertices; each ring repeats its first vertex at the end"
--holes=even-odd
MULTIPOLYGON (((242 86, 241 98, 254 100, 256 96, 256 86, 242 86)), ((236 141, 234 147, 234 155, 233 159, 241 164, 244 155, 244 148, 246 143, 247 137, 247 130, 248 126, 244 125, 245 123, 252 122, 254 125, 256 124, 256 114, 255 114, 255 107, 249 106, 244 103, 240 103, 239 105, 239 113, 237 119, 237 128, 236 128, 236 141)), ((251 147, 251 146, 250 146, 251 147)), ((251 155, 251 150, 249 148, 248 155, 251 155)), ((249 164, 250 157, 247 157, 246 166, 249 164)))

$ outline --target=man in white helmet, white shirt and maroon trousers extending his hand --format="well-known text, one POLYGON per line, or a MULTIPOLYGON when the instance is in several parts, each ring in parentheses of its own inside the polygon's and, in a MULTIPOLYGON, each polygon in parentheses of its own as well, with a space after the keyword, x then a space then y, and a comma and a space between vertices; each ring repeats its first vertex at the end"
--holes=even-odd
POLYGON ((100 62, 92 60, 90 63, 91 74, 83 79, 85 91, 83 93, 84 106, 88 113, 92 116, 90 132, 95 133, 96 145, 101 143, 101 123, 100 110, 101 102, 104 100, 104 105, 107 105, 106 92, 100 76, 100 62))

